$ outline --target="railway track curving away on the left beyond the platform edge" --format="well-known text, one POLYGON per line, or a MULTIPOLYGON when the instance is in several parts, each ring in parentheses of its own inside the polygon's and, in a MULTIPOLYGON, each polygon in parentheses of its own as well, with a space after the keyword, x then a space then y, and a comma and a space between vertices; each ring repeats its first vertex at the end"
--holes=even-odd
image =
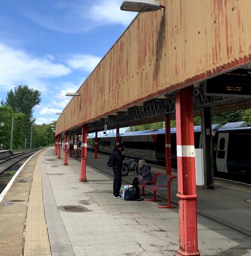
POLYGON ((2 157, 0 156, 0 174, 3 173, 5 170, 14 166, 17 162, 21 161, 22 159, 34 154, 37 150, 21 152, 9 156, 2 157))

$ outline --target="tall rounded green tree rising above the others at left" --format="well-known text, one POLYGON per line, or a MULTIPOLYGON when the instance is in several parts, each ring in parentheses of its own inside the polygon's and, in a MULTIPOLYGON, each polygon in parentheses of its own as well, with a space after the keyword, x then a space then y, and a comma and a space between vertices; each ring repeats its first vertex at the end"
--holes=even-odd
POLYGON ((19 85, 14 90, 7 92, 6 102, 1 101, 1 105, 10 106, 15 113, 26 114, 27 121, 32 121, 34 107, 41 102, 41 92, 29 88, 27 85, 19 85))

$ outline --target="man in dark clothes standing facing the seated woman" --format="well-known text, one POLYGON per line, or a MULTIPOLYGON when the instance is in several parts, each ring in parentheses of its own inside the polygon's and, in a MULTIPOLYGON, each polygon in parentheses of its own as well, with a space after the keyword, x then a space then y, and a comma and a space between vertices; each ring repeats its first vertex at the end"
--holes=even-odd
POLYGON ((124 145, 122 143, 118 144, 118 148, 115 148, 113 151, 113 197, 122 198, 119 194, 121 185, 122 185, 122 168, 123 161, 125 159, 124 145))

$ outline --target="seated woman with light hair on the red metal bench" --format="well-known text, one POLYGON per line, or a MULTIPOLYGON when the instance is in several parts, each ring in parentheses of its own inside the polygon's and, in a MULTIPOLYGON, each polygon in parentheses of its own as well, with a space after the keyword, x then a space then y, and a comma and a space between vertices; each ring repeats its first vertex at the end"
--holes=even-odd
POLYGON ((139 184, 143 184, 146 181, 151 181, 151 167, 146 166, 146 162, 143 159, 140 159, 139 161, 139 169, 140 169, 140 174, 139 177, 135 177, 133 179, 133 187, 135 188, 137 192, 137 197, 140 199, 140 188, 139 184))

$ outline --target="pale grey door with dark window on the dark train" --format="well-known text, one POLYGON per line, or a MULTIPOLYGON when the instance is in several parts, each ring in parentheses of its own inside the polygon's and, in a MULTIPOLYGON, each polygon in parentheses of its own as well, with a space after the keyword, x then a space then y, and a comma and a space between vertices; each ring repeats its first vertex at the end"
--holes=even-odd
POLYGON ((216 166, 218 172, 228 173, 227 155, 228 155, 229 133, 219 133, 216 166))

